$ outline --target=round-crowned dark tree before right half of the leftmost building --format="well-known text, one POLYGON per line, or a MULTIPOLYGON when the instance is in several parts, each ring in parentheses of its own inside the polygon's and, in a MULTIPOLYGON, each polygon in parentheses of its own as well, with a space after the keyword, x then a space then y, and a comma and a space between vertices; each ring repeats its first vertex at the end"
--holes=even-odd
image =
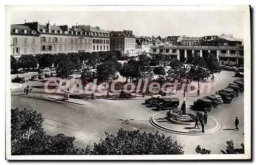
POLYGON ((36 58, 31 54, 23 54, 18 58, 20 68, 36 68, 36 58))

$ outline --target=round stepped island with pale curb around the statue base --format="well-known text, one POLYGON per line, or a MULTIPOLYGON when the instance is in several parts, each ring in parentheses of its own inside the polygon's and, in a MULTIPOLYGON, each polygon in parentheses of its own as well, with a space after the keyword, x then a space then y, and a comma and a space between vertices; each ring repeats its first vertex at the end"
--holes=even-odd
MULTIPOLYGON (((205 124, 205 132, 202 133, 201 125, 199 129, 195 128, 193 116, 194 112, 188 112, 186 115, 177 115, 177 118, 171 117, 168 121, 166 118, 167 111, 158 112, 150 117, 152 125, 166 132, 183 134, 183 135, 204 135, 214 133, 221 128, 221 124, 213 117, 208 116, 207 124, 205 124)), ((176 114, 176 113, 172 113, 176 114)))

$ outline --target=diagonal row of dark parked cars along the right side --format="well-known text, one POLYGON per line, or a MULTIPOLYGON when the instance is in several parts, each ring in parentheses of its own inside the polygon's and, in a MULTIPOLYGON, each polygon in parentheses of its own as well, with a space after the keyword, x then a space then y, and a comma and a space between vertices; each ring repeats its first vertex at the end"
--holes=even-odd
POLYGON ((196 111, 211 111, 221 103, 231 103, 234 97, 238 97, 239 93, 244 91, 244 79, 240 78, 230 82, 227 88, 221 89, 216 94, 205 96, 197 101, 191 107, 196 111))

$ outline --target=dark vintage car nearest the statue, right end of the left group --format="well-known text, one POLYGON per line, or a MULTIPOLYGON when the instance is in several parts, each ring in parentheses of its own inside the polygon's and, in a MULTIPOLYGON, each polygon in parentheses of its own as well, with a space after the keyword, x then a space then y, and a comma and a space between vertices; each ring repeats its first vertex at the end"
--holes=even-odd
POLYGON ((164 111, 168 109, 176 109, 180 104, 180 99, 178 97, 169 97, 161 99, 161 102, 157 104, 157 111, 164 111))

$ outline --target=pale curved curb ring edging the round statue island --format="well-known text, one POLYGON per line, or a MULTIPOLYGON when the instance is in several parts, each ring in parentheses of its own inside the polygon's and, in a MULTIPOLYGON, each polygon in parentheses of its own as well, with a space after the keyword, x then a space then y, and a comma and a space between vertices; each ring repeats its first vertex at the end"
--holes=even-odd
MULTIPOLYGON (((158 112, 158 113, 160 113, 160 112, 158 112)), ((158 113, 156 113, 156 114, 158 114, 158 113)), ((158 129, 161 129, 161 130, 163 130, 163 131, 170 132, 170 133, 183 134, 183 135, 204 135, 204 134, 214 133, 214 132, 218 131, 218 130, 221 128, 221 123, 220 123, 220 122, 218 122, 215 118, 213 118, 213 117, 211 117, 211 116, 208 116, 208 117, 214 119, 215 122, 217 123, 217 125, 216 125, 214 128, 211 128, 211 129, 209 129, 209 130, 206 130, 204 133, 201 133, 201 132, 190 132, 190 133, 189 133, 189 132, 185 132, 185 131, 174 130, 174 129, 166 128, 166 127, 164 127, 164 126, 161 126, 161 125, 157 124, 157 123, 155 122, 155 120, 153 119, 156 114, 154 114, 154 115, 152 115, 152 116, 150 117, 150 123, 151 123, 153 126, 157 127, 158 129)))

